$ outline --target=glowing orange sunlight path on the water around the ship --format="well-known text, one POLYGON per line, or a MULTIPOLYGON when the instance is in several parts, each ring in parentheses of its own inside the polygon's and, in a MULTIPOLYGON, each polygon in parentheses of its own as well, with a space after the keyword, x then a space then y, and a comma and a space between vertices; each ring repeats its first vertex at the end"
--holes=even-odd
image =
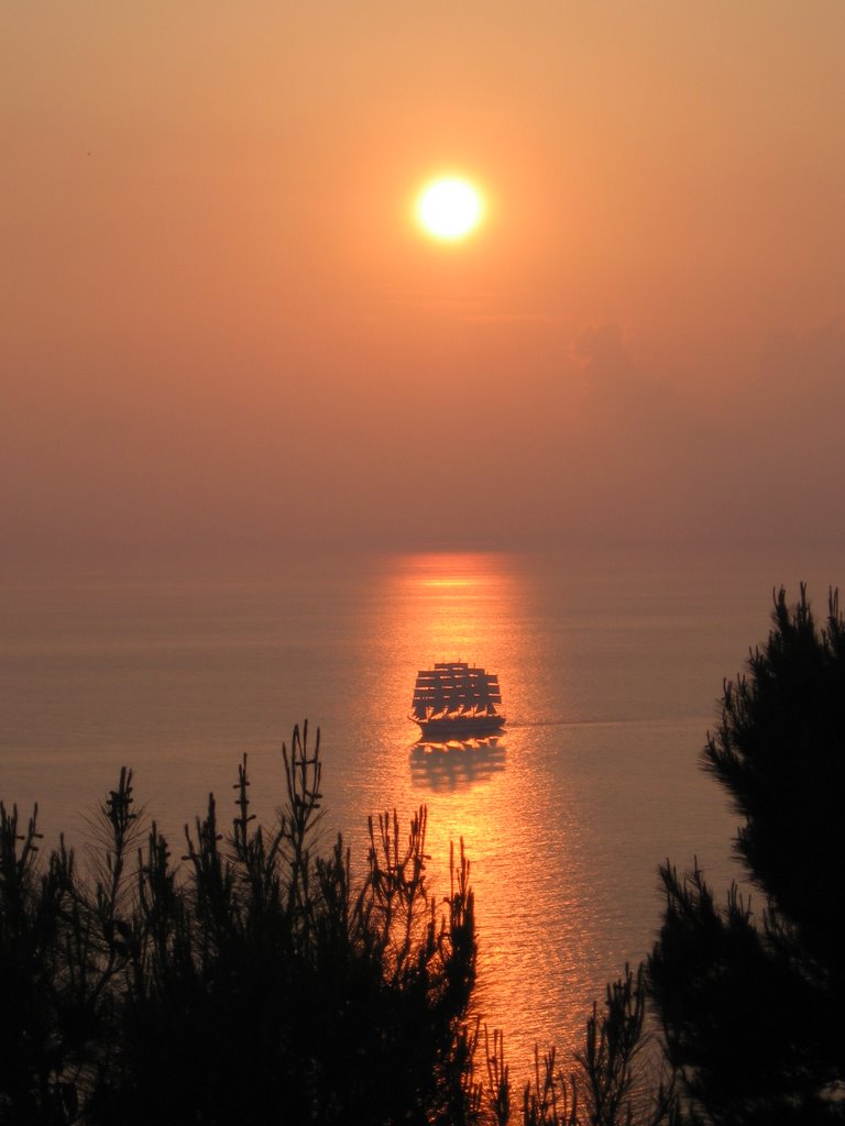
POLYGON ((450 844, 464 841, 480 936, 477 1012, 491 1030, 505 1029, 516 1074, 536 1042, 541 1048, 551 1038, 567 1042, 561 1047, 576 1042, 590 1000, 586 967, 596 962, 584 926, 579 811, 561 806, 550 777, 555 763, 533 753, 531 724, 548 715, 541 697, 550 664, 533 615, 505 556, 404 556, 385 575, 379 642, 371 649, 380 660, 370 730, 397 700, 410 708, 417 670, 436 661, 482 665, 502 685, 508 724, 498 740, 411 745, 416 729, 406 720, 397 729, 402 751, 375 754, 372 781, 375 802, 404 793, 406 815, 427 806, 430 869, 441 893, 448 888, 450 844))

